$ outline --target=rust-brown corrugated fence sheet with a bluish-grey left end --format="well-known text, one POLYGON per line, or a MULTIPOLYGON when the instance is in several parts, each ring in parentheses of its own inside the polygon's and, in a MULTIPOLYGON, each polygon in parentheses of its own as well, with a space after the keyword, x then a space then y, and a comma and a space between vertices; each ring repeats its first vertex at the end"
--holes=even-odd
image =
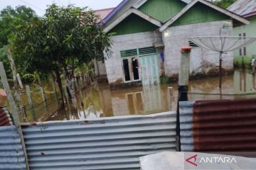
POLYGON ((181 150, 256 151, 256 98, 180 103, 181 150))

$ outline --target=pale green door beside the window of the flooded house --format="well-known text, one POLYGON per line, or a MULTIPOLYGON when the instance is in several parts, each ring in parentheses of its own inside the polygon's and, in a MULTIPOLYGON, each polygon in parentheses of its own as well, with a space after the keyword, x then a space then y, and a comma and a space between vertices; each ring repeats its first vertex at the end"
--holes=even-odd
POLYGON ((156 55, 146 55, 139 58, 142 70, 143 85, 159 84, 159 62, 156 55))

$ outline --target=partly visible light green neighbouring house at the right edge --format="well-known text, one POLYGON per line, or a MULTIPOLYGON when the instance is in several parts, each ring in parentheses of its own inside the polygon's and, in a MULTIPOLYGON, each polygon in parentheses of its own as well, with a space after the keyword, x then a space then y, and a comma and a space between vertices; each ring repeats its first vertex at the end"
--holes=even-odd
MULTIPOLYGON (((234 35, 240 37, 256 37, 256 0, 238 0, 228 10, 237 13, 238 15, 250 21, 250 25, 238 26, 234 28, 234 35)), ((252 43, 247 47, 241 47, 234 52, 235 64, 247 64, 250 66, 252 57, 256 58, 256 44, 252 43)))

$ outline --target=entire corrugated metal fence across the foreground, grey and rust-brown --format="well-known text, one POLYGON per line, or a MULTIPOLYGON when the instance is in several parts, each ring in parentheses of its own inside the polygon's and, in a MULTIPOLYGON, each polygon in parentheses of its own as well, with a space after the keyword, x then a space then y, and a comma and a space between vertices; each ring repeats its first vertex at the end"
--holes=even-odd
MULTIPOLYGON (((181 102, 181 151, 255 151, 255 102, 256 98, 181 102)), ((176 112, 33 123, 21 128, 28 165, 36 170, 139 170, 139 157, 176 151, 178 143, 176 112)), ((20 157, 22 147, 15 137, 9 147, 18 144, 20 157)), ((5 140, 0 141, 6 145, 5 140)), ((9 152, 0 152, 0 157, 9 159, 5 155, 11 155, 9 152)), ((4 161, 0 161, 0 169, 1 164, 4 161)))

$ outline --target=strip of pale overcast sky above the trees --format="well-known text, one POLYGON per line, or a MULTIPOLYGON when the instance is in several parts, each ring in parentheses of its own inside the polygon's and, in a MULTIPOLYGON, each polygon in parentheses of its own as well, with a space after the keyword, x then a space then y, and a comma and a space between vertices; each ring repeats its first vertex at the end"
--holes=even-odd
POLYGON ((55 2, 59 6, 75 4, 75 6, 89 6, 92 9, 112 8, 117 6, 122 0, 0 0, 0 11, 6 6, 25 5, 33 8, 38 16, 43 16, 46 7, 55 2))

